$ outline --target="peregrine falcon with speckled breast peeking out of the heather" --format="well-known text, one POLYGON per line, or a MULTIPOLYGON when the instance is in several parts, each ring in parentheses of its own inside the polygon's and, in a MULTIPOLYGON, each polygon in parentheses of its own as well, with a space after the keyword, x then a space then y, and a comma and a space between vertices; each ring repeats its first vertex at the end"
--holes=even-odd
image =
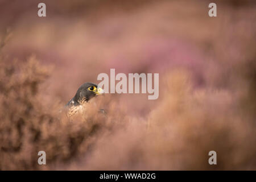
POLYGON ((90 99, 101 94, 104 94, 104 90, 100 86, 92 82, 82 84, 76 95, 65 105, 65 107, 68 107, 68 117, 72 117, 78 111, 83 110, 90 99))

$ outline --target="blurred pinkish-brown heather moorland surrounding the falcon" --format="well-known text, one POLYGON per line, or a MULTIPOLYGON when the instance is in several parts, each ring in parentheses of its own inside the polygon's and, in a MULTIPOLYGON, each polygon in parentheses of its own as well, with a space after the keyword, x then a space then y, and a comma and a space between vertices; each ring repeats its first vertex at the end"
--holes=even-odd
POLYGON ((0 0, 0 169, 255 170, 255 10, 249 0, 0 0), (106 94, 107 118, 57 114, 110 68, 159 73, 158 100, 106 94))

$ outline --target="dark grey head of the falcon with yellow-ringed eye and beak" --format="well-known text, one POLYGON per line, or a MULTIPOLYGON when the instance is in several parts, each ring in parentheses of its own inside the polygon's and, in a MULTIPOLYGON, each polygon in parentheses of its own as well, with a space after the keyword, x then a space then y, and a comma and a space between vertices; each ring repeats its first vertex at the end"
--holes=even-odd
POLYGON ((68 102, 67 106, 84 105, 93 97, 101 94, 104 94, 104 90, 100 86, 92 82, 85 82, 77 90, 76 95, 68 102))

